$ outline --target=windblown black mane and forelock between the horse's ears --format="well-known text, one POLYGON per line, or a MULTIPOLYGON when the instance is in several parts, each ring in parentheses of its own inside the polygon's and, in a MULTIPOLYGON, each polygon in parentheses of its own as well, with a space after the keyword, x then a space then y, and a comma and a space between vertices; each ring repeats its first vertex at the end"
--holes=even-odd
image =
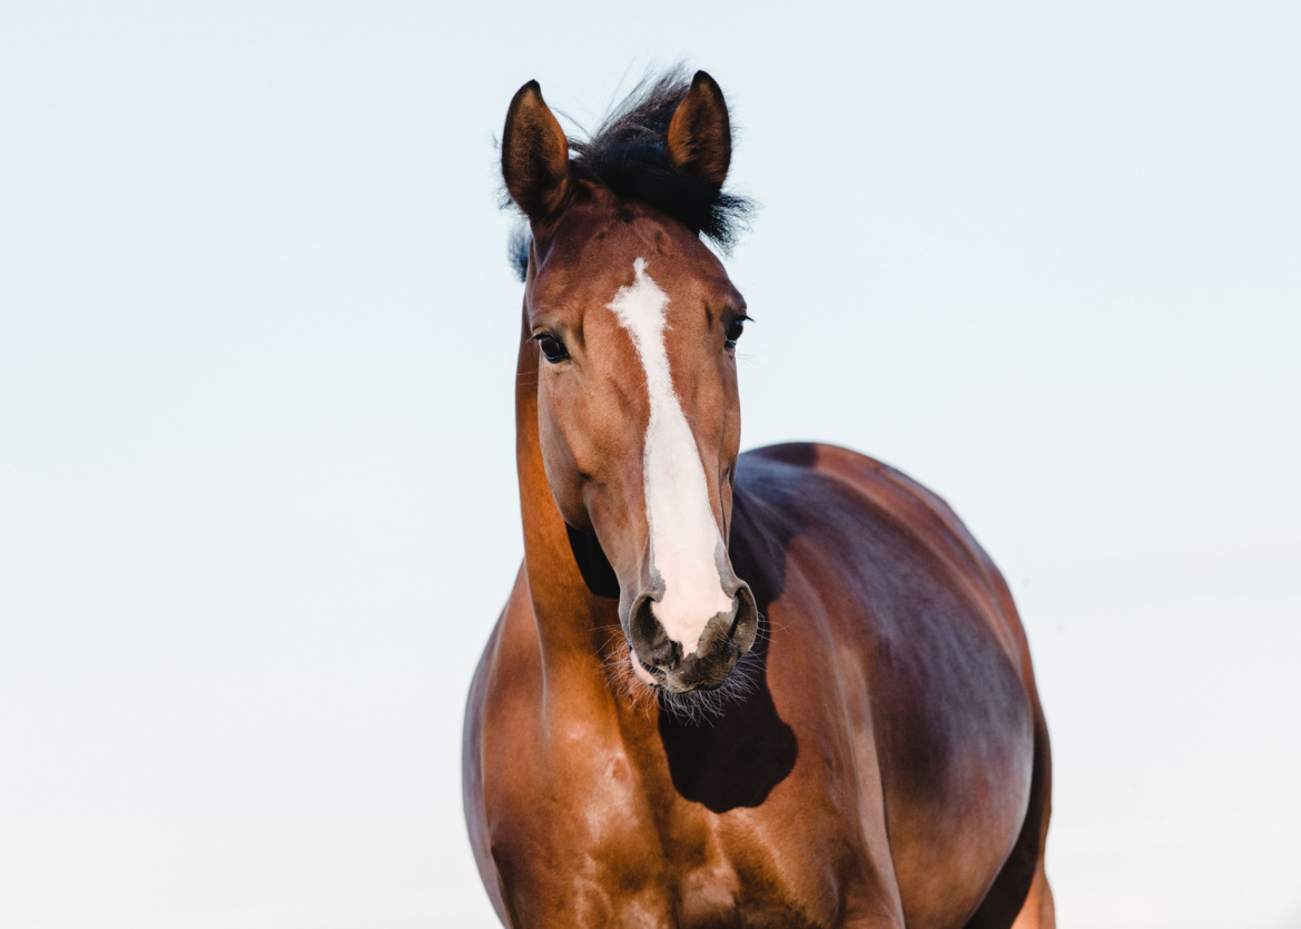
MULTIPOLYGON (((747 228, 753 203, 669 165, 669 121, 688 90, 682 68, 643 78, 589 139, 569 141, 570 172, 654 207, 727 251, 747 228)), ((511 237, 510 259, 524 280, 527 233, 511 237)))

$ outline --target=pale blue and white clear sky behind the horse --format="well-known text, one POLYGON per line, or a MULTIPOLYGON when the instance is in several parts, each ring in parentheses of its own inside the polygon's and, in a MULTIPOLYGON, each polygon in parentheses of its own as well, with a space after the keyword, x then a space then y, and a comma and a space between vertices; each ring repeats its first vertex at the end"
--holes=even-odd
POLYGON ((1063 929, 1301 926, 1298 49, 1294 3, 0 3, 0 926, 493 924, 493 138, 679 59, 762 204, 744 444, 1002 566, 1063 929))

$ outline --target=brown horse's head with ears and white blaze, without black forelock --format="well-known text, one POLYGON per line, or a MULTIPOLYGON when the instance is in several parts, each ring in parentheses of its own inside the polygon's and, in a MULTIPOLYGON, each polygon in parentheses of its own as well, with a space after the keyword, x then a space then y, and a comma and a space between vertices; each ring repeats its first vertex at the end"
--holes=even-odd
MULTIPOLYGON (((705 82, 700 96, 697 75, 678 113, 722 108, 705 82)), ((692 118, 718 138, 717 120, 692 118)), ((548 483, 561 515, 596 535, 618 576, 637 677, 671 692, 716 688, 757 630, 755 597, 727 557, 745 304, 696 233, 574 176, 550 124, 526 85, 502 144, 507 189, 532 220, 524 338, 537 351, 548 483)), ((701 138, 679 133, 696 160, 673 161, 670 126, 670 161, 717 173, 701 138)))

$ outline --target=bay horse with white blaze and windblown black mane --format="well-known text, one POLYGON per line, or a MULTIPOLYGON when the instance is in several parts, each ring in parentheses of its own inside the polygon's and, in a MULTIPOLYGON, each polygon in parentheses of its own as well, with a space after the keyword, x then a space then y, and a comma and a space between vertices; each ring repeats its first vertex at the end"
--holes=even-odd
POLYGON ((527 215, 524 562, 464 811, 511 926, 1054 925, 1025 632, 952 510, 829 445, 739 455, 745 301, 704 238, 727 107, 644 83, 588 141, 506 116, 527 215))

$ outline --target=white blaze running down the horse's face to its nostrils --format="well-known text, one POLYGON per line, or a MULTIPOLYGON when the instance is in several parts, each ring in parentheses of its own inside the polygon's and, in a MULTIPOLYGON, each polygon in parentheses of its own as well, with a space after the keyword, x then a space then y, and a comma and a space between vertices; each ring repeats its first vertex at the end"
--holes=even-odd
POLYGON ((669 297, 645 267, 644 258, 632 263, 632 284, 619 288, 606 307, 631 336, 650 396, 641 468, 650 569, 664 583, 664 597, 650 610, 669 638, 682 645, 683 654, 691 654, 705 625, 719 613, 731 613, 732 599, 723 591, 718 572, 723 540, 709 507, 705 468, 669 372, 664 345, 669 297))

